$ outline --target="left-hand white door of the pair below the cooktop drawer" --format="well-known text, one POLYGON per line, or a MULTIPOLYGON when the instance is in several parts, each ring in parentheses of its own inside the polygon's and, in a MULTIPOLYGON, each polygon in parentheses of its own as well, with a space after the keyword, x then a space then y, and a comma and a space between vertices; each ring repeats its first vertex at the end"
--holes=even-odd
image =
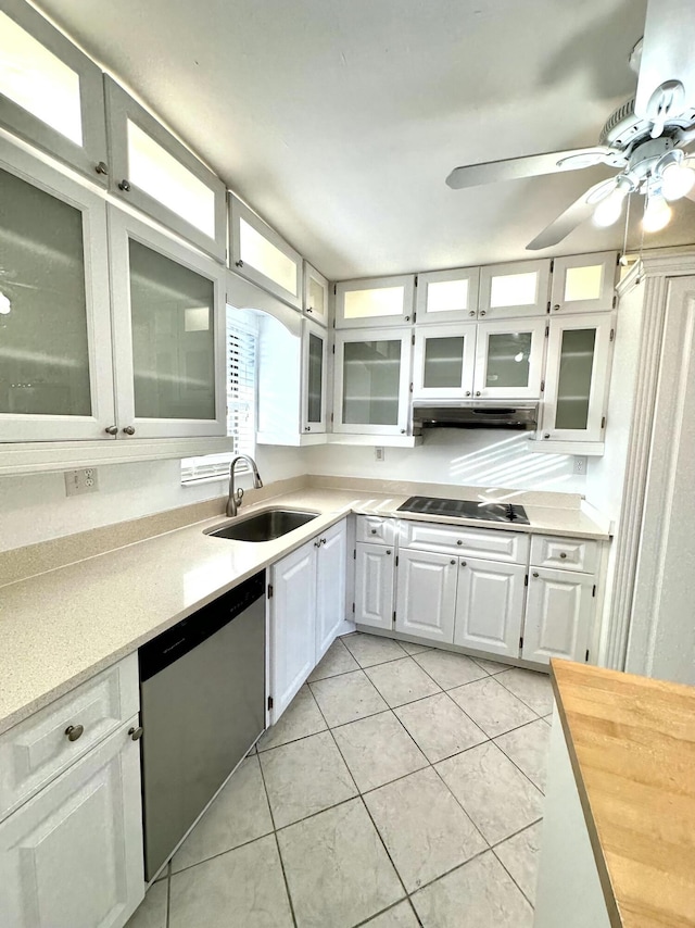
POLYGON ((396 631, 451 644, 458 559, 426 551, 399 553, 396 631))

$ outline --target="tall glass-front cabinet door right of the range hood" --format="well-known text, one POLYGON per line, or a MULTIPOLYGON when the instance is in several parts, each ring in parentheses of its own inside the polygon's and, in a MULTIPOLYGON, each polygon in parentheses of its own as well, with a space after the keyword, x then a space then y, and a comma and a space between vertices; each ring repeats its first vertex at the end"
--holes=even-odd
POLYGON ((615 316, 551 319, 542 440, 603 441, 615 316))

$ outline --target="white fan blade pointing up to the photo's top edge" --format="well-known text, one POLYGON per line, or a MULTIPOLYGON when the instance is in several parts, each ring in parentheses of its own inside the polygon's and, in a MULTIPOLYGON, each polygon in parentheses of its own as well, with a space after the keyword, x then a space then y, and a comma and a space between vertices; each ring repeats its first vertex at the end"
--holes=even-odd
POLYGON ((648 0, 634 103, 636 116, 662 127, 665 120, 695 106, 694 48, 692 0, 648 0))

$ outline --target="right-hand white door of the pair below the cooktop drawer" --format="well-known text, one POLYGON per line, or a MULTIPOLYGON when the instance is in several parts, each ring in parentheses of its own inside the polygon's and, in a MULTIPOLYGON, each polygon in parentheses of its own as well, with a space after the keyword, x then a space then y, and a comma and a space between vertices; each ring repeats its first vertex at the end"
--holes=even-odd
POLYGON ((460 560, 454 643, 519 656, 526 566, 460 560))

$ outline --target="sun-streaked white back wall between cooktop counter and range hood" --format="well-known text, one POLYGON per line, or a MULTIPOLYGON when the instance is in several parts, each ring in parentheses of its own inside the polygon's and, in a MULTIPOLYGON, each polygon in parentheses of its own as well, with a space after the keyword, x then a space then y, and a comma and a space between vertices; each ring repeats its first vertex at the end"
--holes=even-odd
POLYGON ((573 473, 574 459, 531 453, 529 434, 428 429, 418 448, 387 448, 383 462, 375 461, 374 448, 342 444, 308 448, 306 461, 312 474, 583 493, 585 477, 573 473))

